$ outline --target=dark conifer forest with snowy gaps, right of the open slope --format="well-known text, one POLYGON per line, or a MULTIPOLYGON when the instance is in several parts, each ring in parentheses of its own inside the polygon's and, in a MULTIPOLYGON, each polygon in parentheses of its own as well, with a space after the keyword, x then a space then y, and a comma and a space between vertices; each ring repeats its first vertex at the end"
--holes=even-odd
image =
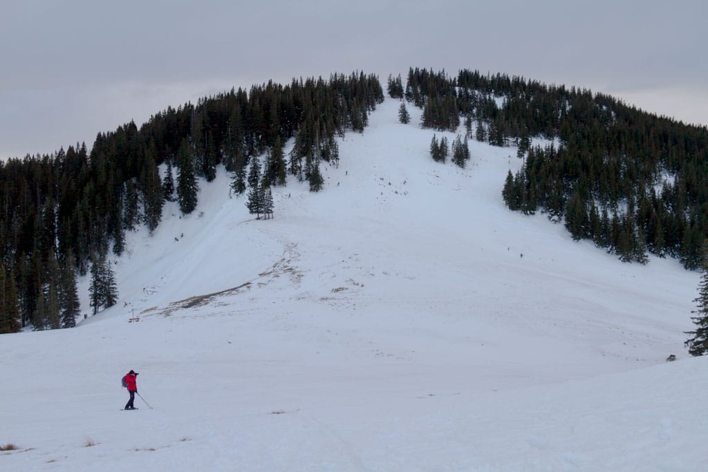
MULTIPOLYGON (((389 87, 390 88, 390 87, 389 87)), ((565 221, 625 261, 648 253, 702 260, 708 234, 708 129, 644 113, 610 96, 505 74, 410 69, 404 96, 424 127, 518 146, 508 175, 510 209, 565 221), (474 129, 474 130, 473 130, 474 129), (531 146, 539 137, 552 144, 531 146)))

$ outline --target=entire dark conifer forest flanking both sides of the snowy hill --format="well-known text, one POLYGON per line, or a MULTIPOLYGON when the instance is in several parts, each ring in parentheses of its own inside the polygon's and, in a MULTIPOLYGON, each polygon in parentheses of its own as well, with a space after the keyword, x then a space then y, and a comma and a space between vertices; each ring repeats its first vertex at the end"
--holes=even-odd
MULTIPOLYGON (((699 267, 708 231, 705 127, 504 74, 411 68, 405 84, 389 76, 387 86, 402 100, 401 121, 412 103, 423 110, 423 127, 464 125, 452 145, 460 166, 470 157, 468 139, 517 146, 523 166, 499 183, 510 209, 564 221, 573 238, 627 262, 653 253, 699 267), (533 146, 534 138, 549 144, 533 146)), ((213 180, 219 165, 236 193, 285 185, 288 174, 318 191, 319 162, 338 159, 336 135, 362 132, 382 100, 377 77, 360 72, 268 82, 99 133, 90 151, 76 144, 0 162, 0 333, 74 326, 77 274, 91 274, 94 313, 115 304, 108 254, 122 254, 126 231, 154 231, 166 201, 192 212, 198 178, 213 180), (261 155, 262 170, 253 159, 261 155)), ((433 138, 435 159, 445 160, 444 142, 433 138)), ((249 193, 249 210, 257 207, 249 193)))

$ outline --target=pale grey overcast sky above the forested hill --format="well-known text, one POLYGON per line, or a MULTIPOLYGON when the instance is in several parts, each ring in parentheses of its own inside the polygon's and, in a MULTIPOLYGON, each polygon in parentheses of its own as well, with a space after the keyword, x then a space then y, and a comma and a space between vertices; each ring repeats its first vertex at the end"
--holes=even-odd
POLYGON ((503 72, 708 124, 708 2, 0 0, 0 157, 268 79, 503 72))

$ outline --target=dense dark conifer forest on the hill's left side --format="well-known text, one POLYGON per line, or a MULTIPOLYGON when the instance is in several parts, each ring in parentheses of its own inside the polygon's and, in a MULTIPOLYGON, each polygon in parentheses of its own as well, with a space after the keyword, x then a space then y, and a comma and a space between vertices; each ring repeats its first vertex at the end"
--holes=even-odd
POLYGON ((266 151, 260 185, 284 185, 284 167, 301 180, 317 178, 321 159, 338 159, 333 138, 362 132, 382 100, 377 77, 362 72, 285 86, 270 81, 168 108, 140 128, 130 122, 99 133, 90 152, 76 144, 0 162, 0 333, 28 323, 73 326, 78 308, 66 299, 74 297, 76 273, 89 269, 94 312, 115 303, 107 255, 125 251, 126 231, 156 229, 164 202, 192 212, 198 178, 213 180, 219 164, 244 192, 246 166, 266 151), (284 166, 280 146, 292 137, 284 166))

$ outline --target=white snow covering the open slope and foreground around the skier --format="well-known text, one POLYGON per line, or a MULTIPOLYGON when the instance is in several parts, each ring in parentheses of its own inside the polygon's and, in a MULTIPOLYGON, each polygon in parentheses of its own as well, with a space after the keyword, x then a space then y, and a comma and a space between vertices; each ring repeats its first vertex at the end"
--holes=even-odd
POLYGON ((256 221, 221 169, 128 235, 117 306, 1 336, 0 469, 704 470, 699 276, 509 212, 515 148, 435 163, 398 106, 341 139, 323 192, 291 178, 256 221), (120 411, 129 369, 154 408, 120 411))

